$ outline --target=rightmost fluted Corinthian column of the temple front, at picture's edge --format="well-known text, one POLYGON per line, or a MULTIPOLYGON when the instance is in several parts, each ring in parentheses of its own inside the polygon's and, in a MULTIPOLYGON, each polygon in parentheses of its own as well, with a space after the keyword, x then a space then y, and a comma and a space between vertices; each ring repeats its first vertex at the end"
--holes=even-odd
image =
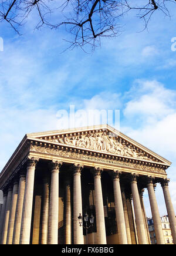
POLYGON ((168 183, 170 180, 166 179, 161 181, 161 186, 163 188, 165 206, 167 208, 168 218, 170 221, 171 233, 174 244, 176 244, 176 218, 174 213, 174 207, 172 206, 170 191, 168 189, 168 183))

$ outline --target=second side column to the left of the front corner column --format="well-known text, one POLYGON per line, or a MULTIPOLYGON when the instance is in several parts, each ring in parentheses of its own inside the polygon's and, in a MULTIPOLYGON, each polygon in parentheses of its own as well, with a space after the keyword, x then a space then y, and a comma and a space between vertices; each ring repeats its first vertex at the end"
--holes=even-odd
POLYGON ((7 235, 6 244, 12 244, 17 198, 18 198, 18 180, 15 180, 13 183, 11 212, 9 216, 8 235, 7 235))

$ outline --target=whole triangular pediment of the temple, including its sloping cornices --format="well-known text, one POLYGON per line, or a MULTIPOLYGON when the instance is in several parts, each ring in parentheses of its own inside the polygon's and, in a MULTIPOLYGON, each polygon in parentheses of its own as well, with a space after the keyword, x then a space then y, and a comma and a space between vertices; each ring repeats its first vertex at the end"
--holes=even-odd
POLYGON ((27 137, 170 166, 170 161, 108 125, 30 133, 27 137))

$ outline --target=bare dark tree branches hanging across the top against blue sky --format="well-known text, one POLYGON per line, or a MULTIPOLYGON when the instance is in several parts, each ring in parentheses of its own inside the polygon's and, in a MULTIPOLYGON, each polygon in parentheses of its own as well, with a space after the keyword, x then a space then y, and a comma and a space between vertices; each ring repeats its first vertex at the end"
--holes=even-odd
POLYGON ((35 28, 48 26, 59 29, 63 25, 73 36, 70 48, 100 45, 101 37, 113 38, 120 34, 121 17, 132 10, 143 19, 144 29, 154 12, 170 16, 169 4, 174 0, 1 0, 0 22, 6 21, 16 32, 28 21, 29 15, 37 13, 35 28), (57 15, 57 16, 56 16, 57 15), (60 18, 62 15, 62 18, 60 18), (57 21, 58 17, 58 21, 57 21))

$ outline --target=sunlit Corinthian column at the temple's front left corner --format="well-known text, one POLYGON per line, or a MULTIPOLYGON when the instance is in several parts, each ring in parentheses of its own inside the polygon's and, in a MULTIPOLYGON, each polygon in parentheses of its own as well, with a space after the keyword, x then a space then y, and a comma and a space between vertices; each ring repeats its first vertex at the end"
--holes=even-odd
POLYGON ((21 235, 19 241, 20 244, 29 244, 30 242, 33 186, 35 177, 35 167, 37 162, 38 159, 35 159, 34 157, 28 159, 27 162, 26 186, 23 201, 21 235))

